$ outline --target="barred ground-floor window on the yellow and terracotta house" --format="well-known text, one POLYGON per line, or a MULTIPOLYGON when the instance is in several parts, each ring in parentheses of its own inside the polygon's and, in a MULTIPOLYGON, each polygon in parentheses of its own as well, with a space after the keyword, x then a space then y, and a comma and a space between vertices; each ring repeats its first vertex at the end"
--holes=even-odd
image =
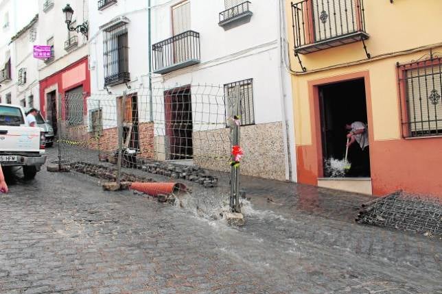
POLYGON ((442 136, 442 58, 398 64, 405 137, 442 136))

